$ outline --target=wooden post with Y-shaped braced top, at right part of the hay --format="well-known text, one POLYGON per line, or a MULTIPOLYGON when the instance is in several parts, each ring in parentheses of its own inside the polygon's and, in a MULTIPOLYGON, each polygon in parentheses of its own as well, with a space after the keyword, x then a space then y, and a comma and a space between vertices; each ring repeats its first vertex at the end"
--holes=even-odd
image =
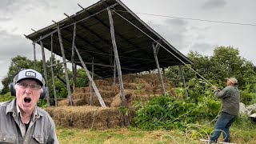
POLYGON ((152 46, 153 46, 153 50, 154 50, 154 60, 155 60, 155 63, 158 67, 158 76, 159 76, 159 80, 160 80, 161 86, 162 86, 162 94, 166 95, 166 89, 165 89, 165 86, 164 86, 164 83, 163 83, 163 80, 162 80, 162 74, 161 74, 159 63, 158 63, 158 50, 159 50, 160 45, 157 42, 156 46, 154 46, 154 43, 152 43, 152 46))

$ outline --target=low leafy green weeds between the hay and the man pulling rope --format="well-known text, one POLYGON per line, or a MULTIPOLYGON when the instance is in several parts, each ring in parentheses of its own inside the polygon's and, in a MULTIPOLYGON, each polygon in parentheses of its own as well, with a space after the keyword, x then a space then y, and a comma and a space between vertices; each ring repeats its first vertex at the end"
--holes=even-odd
POLYGON ((137 105, 134 125, 142 130, 184 130, 187 124, 211 120, 218 114, 220 102, 208 90, 209 86, 201 85, 199 81, 190 82, 188 87, 193 90, 189 89, 189 97, 182 100, 167 95, 137 105))

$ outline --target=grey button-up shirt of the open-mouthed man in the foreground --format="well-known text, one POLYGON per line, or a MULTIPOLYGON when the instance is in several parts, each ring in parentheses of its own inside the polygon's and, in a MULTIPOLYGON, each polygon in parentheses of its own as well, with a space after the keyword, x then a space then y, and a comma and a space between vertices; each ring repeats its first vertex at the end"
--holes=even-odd
POLYGON ((0 104, 0 143, 58 143, 55 125, 50 115, 36 107, 38 114, 31 118, 30 125, 24 137, 19 127, 19 115, 16 109, 16 99, 0 104))

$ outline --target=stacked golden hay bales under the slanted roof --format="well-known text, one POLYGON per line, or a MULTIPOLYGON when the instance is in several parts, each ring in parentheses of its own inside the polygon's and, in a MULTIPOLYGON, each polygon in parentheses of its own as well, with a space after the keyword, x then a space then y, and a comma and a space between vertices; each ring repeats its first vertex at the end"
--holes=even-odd
MULTIPOLYGON (((126 107, 133 109, 134 101, 146 102, 150 98, 162 94, 161 83, 157 74, 127 74, 123 75, 126 107)), ((122 104, 119 82, 113 85, 113 78, 94 81, 106 108, 100 107, 94 93, 93 106, 90 106, 90 87, 76 88, 72 94, 74 106, 68 106, 68 99, 58 102, 57 107, 46 110, 61 126, 78 128, 96 128, 98 130, 122 126, 123 115, 119 110, 122 104)), ((165 87, 170 90, 170 84, 165 79, 165 87)), ((134 114, 131 114, 133 118, 134 114)))

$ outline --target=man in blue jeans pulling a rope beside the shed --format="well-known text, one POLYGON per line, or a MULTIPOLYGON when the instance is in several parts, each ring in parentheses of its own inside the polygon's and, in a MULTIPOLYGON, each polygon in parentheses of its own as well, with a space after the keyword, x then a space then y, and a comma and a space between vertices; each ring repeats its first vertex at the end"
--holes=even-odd
POLYGON ((223 133, 224 142, 230 142, 230 126, 238 117, 240 94, 238 90, 238 80, 236 78, 227 78, 226 87, 218 90, 216 86, 214 95, 222 99, 222 113, 214 126, 214 134, 210 137, 210 143, 217 143, 218 137, 223 133))

